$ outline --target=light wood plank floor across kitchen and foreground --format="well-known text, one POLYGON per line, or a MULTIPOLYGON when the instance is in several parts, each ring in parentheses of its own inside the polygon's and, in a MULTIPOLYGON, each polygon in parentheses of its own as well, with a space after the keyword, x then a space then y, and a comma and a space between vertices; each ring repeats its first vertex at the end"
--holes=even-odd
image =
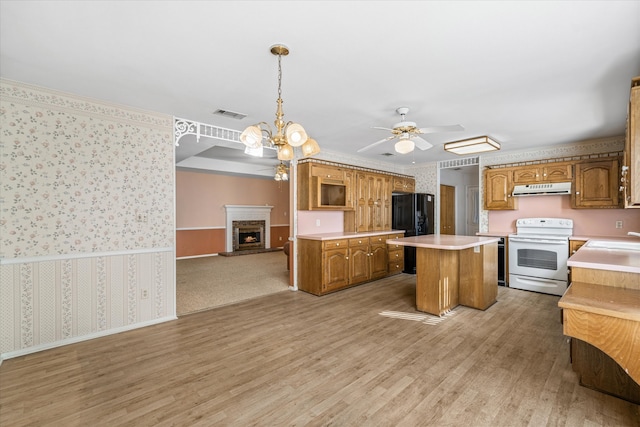
POLYGON ((6 360, 0 426, 639 425, 638 406, 578 385, 558 297, 500 288, 486 311, 440 319, 415 311, 414 281, 279 293, 6 360))

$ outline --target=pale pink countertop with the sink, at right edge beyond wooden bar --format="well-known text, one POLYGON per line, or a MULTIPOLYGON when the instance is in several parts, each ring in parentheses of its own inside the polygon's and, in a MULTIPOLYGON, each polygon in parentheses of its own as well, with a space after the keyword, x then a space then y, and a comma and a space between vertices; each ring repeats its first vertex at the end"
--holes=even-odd
MULTIPOLYGON (((589 240, 620 240, 629 238, 599 238, 589 240)), ((637 240, 637 239, 636 239, 637 240)), ((640 251, 622 249, 590 248, 582 246, 567 261, 569 267, 592 268, 595 270, 625 271, 640 273, 640 251)))

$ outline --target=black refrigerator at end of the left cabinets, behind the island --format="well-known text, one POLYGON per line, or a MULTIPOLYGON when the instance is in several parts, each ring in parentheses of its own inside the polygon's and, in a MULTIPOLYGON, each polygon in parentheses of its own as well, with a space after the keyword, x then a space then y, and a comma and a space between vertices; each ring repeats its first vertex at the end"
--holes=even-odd
MULTIPOLYGON (((397 194, 392 197, 391 227, 405 237, 434 234, 433 194, 397 194)), ((416 274, 416 248, 404 247, 404 273, 416 274)))

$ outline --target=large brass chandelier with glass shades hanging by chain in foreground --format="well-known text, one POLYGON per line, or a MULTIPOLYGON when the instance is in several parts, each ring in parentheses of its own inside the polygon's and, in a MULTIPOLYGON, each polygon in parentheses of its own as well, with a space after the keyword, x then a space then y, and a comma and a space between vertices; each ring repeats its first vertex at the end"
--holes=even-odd
POLYGON ((281 60, 283 56, 289 54, 289 48, 281 44, 273 45, 271 53, 278 56, 278 108, 276 120, 273 122, 276 129, 275 134, 266 122, 260 122, 247 127, 240 135, 240 141, 250 149, 259 149, 263 146, 262 141, 266 136, 268 140, 266 145, 278 151, 278 160, 281 161, 293 160, 294 147, 300 147, 304 157, 316 155, 320 152, 320 147, 314 139, 309 138, 302 125, 294 122, 285 123, 284 121, 281 60))

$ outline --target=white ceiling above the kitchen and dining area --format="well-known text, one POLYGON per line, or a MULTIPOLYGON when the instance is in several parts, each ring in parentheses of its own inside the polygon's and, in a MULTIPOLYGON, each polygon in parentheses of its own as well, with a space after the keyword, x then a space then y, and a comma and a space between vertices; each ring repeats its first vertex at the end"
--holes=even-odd
MULTIPOLYGON (((291 50, 285 120, 327 152, 404 167, 479 135, 506 152, 623 134, 640 1, 0 2, 2 77, 230 129, 273 122, 275 43, 291 50), (356 153, 400 106, 419 127, 465 130, 427 135, 427 151, 356 153)), ((177 158, 244 156, 201 153, 218 142, 184 139, 177 158)))

